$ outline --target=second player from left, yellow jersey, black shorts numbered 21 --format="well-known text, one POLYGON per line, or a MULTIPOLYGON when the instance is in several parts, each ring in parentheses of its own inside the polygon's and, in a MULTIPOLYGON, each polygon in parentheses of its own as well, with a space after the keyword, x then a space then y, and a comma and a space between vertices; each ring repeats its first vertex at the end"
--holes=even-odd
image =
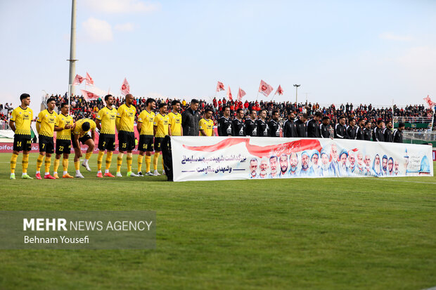
POLYGON ((47 100, 47 109, 39 112, 37 119, 37 132, 39 134, 39 156, 37 159, 36 178, 41 179, 42 160, 45 158, 45 179, 56 179, 50 175, 51 154, 54 152, 53 132, 58 114, 54 111, 56 101, 54 98, 47 100))

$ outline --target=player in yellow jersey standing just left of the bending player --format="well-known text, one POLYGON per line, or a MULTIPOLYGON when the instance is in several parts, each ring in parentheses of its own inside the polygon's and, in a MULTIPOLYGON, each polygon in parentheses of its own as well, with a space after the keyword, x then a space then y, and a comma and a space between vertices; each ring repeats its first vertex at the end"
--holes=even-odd
POLYGON ((63 103, 60 105, 60 114, 56 118, 55 131, 56 131, 56 157, 54 163, 53 177, 59 178, 58 168, 60 163, 60 156, 63 154, 62 166, 63 166, 63 178, 73 178, 68 174, 68 157, 71 153, 71 127, 74 124, 72 117, 68 114, 70 105, 63 103))

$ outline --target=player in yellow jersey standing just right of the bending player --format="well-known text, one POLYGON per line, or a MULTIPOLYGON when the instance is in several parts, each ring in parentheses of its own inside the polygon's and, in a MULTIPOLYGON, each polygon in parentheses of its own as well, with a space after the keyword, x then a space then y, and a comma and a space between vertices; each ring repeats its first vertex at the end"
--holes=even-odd
POLYGON ((106 106, 98 111, 96 125, 100 130, 98 136, 98 157, 97 157, 97 177, 102 178, 101 164, 103 163, 103 155, 106 153, 106 177, 115 177, 110 172, 110 164, 112 163, 112 154, 115 150, 115 120, 117 119, 117 109, 113 107, 115 98, 112 95, 105 96, 106 106))

